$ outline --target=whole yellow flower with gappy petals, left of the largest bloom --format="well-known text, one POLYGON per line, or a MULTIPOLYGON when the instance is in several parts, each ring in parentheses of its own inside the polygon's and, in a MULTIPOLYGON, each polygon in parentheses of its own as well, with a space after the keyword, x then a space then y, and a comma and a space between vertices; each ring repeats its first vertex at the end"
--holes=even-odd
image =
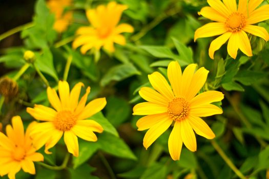
POLYGON ((54 109, 43 105, 35 105, 27 108, 27 112, 35 119, 46 121, 37 123, 31 131, 33 144, 36 148, 45 145, 45 152, 52 148, 63 136, 67 149, 74 156, 78 156, 77 137, 86 141, 97 141, 93 132, 102 132, 100 124, 93 120, 85 120, 102 110, 107 104, 106 98, 94 99, 86 105, 90 87, 86 94, 78 101, 81 86, 77 83, 71 92, 66 81, 59 81, 59 97, 55 89, 48 87, 47 94, 50 104, 54 109))

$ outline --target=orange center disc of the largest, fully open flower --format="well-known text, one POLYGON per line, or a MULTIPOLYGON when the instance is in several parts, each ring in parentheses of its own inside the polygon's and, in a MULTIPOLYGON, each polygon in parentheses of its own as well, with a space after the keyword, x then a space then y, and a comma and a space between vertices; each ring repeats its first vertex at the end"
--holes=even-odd
POLYGON ((184 98, 174 98, 168 103, 168 114, 174 121, 181 121, 189 115, 190 106, 184 98))

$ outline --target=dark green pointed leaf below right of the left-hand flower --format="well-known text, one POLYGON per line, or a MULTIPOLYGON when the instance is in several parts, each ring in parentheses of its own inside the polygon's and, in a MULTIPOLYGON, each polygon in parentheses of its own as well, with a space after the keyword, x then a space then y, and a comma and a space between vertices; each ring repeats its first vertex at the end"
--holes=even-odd
POLYGON ((137 160, 129 146, 120 138, 103 132, 98 137, 97 143, 102 151, 110 153, 119 158, 137 160))

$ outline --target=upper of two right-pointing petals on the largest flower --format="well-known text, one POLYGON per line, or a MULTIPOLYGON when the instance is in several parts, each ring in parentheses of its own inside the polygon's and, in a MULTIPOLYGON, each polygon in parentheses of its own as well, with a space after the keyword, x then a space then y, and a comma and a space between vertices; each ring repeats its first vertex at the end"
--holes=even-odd
POLYGON ((208 91, 203 92, 193 99, 190 100, 191 106, 196 106, 200 104, 210 104, 212 102, 221 101, 224 98, 224 95, 218 91, 208 91))

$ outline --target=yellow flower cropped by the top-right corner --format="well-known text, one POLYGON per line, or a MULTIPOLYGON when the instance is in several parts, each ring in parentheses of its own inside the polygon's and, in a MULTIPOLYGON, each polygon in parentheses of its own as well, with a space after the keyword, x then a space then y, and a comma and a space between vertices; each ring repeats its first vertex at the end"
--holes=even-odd
POLYGON ((263 0, 208 0, 211 7, 203 7, 198 13, 209 18, 214 23, 206 24, 196 30, 194 40, 201 37, 220 35, 210 44, 209 56, 214 59, 214 53, 228 39, 227 51, 232 58, 236 58, 240 49, 247 56, 252 56, 250 40, 247 33, 269 40, 268 32, 259 26, 254 26, 260 21, 269 19, 269 5, 257 8, 263 0))

